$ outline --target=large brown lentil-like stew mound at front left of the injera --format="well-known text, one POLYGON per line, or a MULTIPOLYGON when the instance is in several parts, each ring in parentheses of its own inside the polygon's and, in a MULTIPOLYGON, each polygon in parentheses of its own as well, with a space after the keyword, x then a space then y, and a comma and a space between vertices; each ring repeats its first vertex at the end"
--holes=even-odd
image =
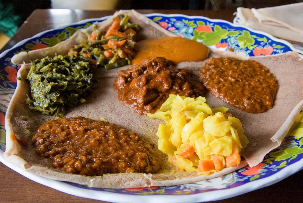
POLYGON ((158 151, 134 132, 84 117, 50 120, 32 137, 36 152, 55 168, 87 176, 108 173, 156 173, 158 151))

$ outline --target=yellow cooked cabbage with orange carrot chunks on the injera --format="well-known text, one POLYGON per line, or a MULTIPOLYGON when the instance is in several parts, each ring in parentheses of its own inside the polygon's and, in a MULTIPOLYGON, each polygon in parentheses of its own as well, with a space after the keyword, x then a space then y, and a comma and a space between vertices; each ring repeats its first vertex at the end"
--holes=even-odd
POLYGON ((238 165, 248 139, 239 119, 228 108, 211 108, 202 96, 171 94, 148 117, 165 121, 158 127, 158 148, 181 171, 210 174, 238 165))

